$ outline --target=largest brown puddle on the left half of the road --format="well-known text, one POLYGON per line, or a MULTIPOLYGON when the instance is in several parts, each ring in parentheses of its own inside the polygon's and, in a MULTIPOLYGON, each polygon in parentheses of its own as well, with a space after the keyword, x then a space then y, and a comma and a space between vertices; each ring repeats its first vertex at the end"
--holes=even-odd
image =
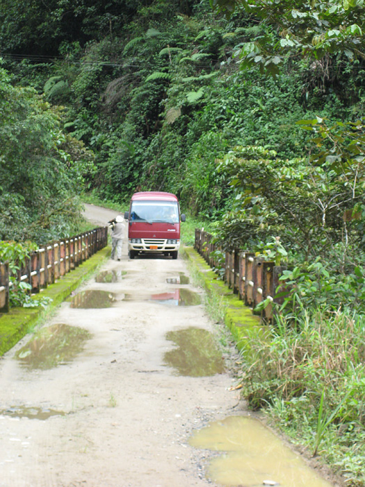
POLYGON ((15 357, 29 369, 51 369, 74 359, 91 336, 87 330, 74 326, 47 326, 17 351, 15 357))

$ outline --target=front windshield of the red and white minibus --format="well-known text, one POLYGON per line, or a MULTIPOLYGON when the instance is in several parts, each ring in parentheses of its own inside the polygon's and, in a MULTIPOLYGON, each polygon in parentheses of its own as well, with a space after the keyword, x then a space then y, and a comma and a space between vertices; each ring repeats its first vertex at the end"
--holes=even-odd
POLYGON ((130 219, 148 223, 179 223, 179 208, 176 201, 133 201, 130 219))

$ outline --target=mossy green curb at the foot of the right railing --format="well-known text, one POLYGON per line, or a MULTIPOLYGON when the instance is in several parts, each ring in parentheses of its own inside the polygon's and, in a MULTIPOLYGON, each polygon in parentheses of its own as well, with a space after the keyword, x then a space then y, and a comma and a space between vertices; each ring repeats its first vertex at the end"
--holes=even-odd
POLYGON ((206 292, 216 294, 222 299, 225 306, 225 324, 231 331, 237 348, 241 350, 250 347, 250 341, 265 333, 266 326, 260 323, 259 317, 252 314, 252 310, 244 305, 237 294, 233 294, 225 282, 217 279, 217 274, 193 247, 185 247, 184 255, 202 278, 206 292))

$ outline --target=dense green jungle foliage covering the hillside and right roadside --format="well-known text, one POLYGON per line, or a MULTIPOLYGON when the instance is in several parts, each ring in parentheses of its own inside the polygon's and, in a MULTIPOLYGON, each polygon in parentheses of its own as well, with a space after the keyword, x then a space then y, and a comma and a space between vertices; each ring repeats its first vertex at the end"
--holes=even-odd
POLYGON ((363 0, 0 0, 0 239, 71 234, 84 192, 153 189, 224 248, 285 264, 243 389, 349 486, 365 485, 364 19, 363 0))

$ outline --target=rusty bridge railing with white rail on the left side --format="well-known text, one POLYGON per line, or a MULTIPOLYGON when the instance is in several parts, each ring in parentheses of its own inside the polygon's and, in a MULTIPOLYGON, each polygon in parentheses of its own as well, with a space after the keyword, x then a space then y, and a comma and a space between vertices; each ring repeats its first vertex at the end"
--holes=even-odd
MULTIPOLYGON (((108 227, 98 227, 32 252, 17 271, 17 282, 28 282, 31 293, 54 283, 108 244, 108 227)), ((9 265, 0 262, 0 313, 9 310, 9 265)))

